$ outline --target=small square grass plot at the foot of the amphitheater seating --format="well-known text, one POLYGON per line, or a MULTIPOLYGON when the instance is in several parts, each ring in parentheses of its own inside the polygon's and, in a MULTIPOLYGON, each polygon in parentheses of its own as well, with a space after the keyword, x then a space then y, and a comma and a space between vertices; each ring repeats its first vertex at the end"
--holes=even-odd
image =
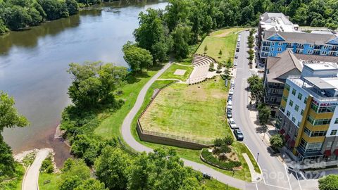
MULTIPOLYGON (((191 63, 189 63, 189 65, 190 64, 191 63)), ((177 65, 177 64, 171 65, 170 68, 168 68, 159 78, 160 79, 177 79, 177 80, 182 80, 182 81, 187 80, 190 73, 192 73, 192 70, 194 68, 191 66, 183 66, 183 65, 188 65, 188 64, 182 63, 182 65, 177 65), (184 75, 174 75, 177 69, 185 70, 184 75)))

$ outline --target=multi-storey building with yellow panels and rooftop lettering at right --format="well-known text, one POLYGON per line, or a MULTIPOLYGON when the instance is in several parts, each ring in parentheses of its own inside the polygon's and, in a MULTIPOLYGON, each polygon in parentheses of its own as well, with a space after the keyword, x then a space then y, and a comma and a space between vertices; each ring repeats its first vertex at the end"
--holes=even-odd
POLYGON ((300 160, 338 160, 338 67, 304 63, 285 82, 276 127, 300 160))

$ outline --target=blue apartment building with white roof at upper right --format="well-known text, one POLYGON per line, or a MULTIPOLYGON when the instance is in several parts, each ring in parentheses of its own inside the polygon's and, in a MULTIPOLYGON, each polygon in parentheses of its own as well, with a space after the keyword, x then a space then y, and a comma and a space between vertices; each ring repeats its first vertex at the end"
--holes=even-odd
POLYGON ((338 57, 338 36, 328 31, 301 32, 282 13, 264 13, 258 25, 258 48, 263 63, 287 49, 299 54, 338 57))

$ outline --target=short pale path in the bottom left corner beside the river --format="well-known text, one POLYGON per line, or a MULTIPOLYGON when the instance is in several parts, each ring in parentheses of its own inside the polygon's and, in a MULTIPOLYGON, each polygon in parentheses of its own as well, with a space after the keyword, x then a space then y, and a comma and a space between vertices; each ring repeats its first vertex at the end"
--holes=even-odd
POLYGON ((35 160, 26 170, 25 176, 23 177, 23 190, 35 190, 39 189, 39 170, 42 165, 42 161, 49 155, 51 148, 40 149, 35 156, 35 160))

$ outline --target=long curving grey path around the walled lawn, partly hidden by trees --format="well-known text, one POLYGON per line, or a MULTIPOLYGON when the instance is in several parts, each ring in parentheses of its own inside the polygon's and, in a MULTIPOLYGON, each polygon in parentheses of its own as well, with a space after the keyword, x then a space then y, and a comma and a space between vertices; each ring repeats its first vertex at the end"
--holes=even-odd
MULTIPOLYGON (((130 147, 134 148, 135 151, 139 151, 139 152, 145 151, 146 153, 153 151, 152 148, 149 148, 147 146, 144 146, 143 144, 140 144, 138 141, 134 139, 134 137, 132 137, 131 124, 132 124, 133 118, 135 117, 135 115, 137 115, 137 112, 142 106, 144 97, 146 96, 146 91, 148 91, 151 84, 153 84, 158 79, 158 77, 160 77, 162 73, 165 72, 165 70, 167 70, 172 64, 173 62, 170 61, 161 70, 159 70, 156 73, 156 75, 154 75, 154 77, 151 78, 151 80, 149 80, 144 85, 144 87, 139 92, 139 95, 137 96, 137 101, 135 102, 134 107, 132 107, 132 110, 130 110, 128 115, 125 117, 125 120, 123 120, 122 129, 121 129, 123 139, 130 147)), ((184 165, 192 167, 194 170, 198 170, 200 172, 206 172, 209 175, 211 175, 214 179, 217 179, 218 181, 223 182, 224 184, 234 186, 238 189, 256 189, 256 184, 244 182, 239 179, 235 179, 233 177, 230 177, 221 172, 213 170, 211 167, 208 167, 200 163, 195 163, 193 161, 185 160, 185 159, 182 159, 182 160, 184 161, 184 165)))

